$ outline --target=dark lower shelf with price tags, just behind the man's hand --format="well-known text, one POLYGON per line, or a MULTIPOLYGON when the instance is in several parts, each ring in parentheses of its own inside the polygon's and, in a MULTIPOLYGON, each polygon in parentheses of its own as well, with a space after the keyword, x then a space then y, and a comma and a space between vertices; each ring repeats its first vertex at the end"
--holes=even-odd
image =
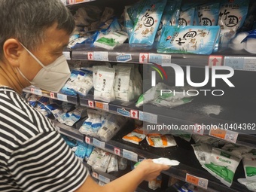
MULTIPOLYGON (((78 130, 70 128, 66 125, 59 125, 60 133, 66 134, 66 136, 74 137, 72 131, 77 133, 78 130)), ((105 151, 111 152, 112 154, 117 154, 120 157, 124 157, 133 162, 138 162, 144 158, 158 158, 158 157, 168 157, 170 159, 180 161, 180 165, 172 166, 171 169, 164 171, 163 174, 169 175, 174 178, 178 178, 181 181, 187 181, 186 175, 190 174, 194 177, 201 178, 208 181, 208 191, 227 191, 227 192, 240 192, 240 191, 249 191, 246 187, 242 186, 237 182, 237 178, 244 177, 244 170, 242 168, 242 163, 239 164, 239 167, 236 169, 235 178, 231 187, 227 187, 224 184, 221 184, 217 178, 206 172, 200 166, 200 163, 197 160, 197 157, 194 155, 193 148, 191 147, 190 142, 184 142, 184 140, 175 137, 177 142, 176 147, 171 148, 153 148, 148 145, 144 140, 140 145, 135 145, 130 142, 125 142, 122 139, 122 136, 130 133, 133 130, 133 126, 126 126, 125 129, 120 130, 120 132, 114 136, 109 142, 102 142, 100 139, 96 139, 90 136, 84 136, 85 142, 90 145, 94 145, 97 148, 102 148, 105 151), (189 158, 187 158, 189 157, 189 158)), ((80 134, 79 139, 81 139, 82 134, 80 134)))

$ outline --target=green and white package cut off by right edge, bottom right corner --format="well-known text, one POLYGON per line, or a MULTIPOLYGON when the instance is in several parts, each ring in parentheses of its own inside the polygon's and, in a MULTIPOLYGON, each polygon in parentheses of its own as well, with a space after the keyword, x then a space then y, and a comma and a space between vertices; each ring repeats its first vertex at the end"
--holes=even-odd
POLYGON ((242 155, 242 163, 245 170, 245 177, 248 181, 256 183, 256 153, 246 153, 242 155))

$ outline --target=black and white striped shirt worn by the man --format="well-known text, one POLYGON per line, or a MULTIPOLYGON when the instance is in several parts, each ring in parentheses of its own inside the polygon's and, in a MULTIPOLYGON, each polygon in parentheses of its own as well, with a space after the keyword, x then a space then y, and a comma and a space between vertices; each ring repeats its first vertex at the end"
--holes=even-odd
POLYGON ((0 191, 74 191, 88 174, 47 117, 0 87, 0 191))

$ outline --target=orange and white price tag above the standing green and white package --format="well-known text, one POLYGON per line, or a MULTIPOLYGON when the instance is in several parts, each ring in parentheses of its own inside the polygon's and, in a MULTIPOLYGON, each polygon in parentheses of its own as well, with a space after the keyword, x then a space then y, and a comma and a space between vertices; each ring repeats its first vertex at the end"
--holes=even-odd
POLYGON ((218 139, 224 139, 228 142, 236 143, 238 133, 230 130, 212 129, 209 132, 209 136, 213 136, 218 139))

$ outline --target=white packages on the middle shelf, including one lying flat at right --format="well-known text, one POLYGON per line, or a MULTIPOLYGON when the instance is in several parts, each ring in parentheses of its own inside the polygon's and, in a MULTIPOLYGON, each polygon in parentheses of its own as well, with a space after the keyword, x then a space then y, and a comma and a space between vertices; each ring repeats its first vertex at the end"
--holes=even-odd
POLYGON ((199 91, 188 85, 171 87, 162 82, 143 93, 142 75, 138 66, 117 63, 116 66, 93 66, 93 68, 76 68, 71 72, 69 81, 60 93, 69 96, 93 95, 93 99, 103 102, 121 100, 136 101, 136 107, 150 103, 165 108, 191 102, 199 91), (161 92, 161 90, 170 90, 161 92), (182 93, 182 94, 181 94, 182 93))

